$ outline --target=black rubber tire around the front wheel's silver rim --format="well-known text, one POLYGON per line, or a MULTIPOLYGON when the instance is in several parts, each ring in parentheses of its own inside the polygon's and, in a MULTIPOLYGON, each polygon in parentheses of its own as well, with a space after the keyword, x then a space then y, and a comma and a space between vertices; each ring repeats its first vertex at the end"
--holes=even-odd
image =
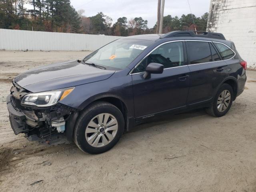
POLYGON ((89 154, 99 154, 110 150, 121 138, 124 132, 124 116, 122 112, 114 105, 108 102, 94 102, 86 108, 78 117, 74 128, 74 142, 83 152, 89 154), (98 114, 108 113, 113 115, 118 122, 118 129, 114 139, 102 147, 91 146, 86 140, 86 128, 89 122, 98 114))

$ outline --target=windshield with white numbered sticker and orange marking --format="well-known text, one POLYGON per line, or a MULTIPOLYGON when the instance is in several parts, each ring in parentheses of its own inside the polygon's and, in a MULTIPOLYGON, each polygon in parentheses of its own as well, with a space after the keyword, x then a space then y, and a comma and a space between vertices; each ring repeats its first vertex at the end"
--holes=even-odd
POLYGON ((83 62, 103 66, 108 70, 121 70, 152 43, 149 40, 118 39, 86 56, 83 62))

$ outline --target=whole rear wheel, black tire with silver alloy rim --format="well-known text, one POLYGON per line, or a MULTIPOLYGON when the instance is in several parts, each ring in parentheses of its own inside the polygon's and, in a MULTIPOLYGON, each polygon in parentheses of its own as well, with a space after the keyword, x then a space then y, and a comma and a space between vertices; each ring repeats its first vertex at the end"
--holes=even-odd
POLYGON ((220 86, 214 100, 209 108, 206 108, 206 113, 221 117, 224 116, 232 105, 234 98, 233 89, 229 84, 222 84, 220 86))

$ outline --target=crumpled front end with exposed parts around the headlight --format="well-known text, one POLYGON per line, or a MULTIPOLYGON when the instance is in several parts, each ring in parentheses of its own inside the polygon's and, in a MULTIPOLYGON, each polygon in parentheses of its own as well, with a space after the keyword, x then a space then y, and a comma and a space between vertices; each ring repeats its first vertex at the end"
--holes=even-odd
POLYGON ((76 109, 57 103, 50 107, 22 106, 20 101, 30 92, 13 81, 6 98, 10 124, 14 134, 25 134, 30 141, 50 144, 65 133, 66 124, 76 109))

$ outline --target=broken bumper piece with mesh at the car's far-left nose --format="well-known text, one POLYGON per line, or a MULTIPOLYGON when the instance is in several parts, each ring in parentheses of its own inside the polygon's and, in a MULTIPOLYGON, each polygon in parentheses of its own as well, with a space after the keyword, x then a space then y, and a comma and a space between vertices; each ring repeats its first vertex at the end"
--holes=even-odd
POLYGON ((14 134, 17 135, 28 132, 26 128, 26 116, 20 109, 16 108, 12 95, 7 96, 6 103, 9 112, 10 124, 14 134))

